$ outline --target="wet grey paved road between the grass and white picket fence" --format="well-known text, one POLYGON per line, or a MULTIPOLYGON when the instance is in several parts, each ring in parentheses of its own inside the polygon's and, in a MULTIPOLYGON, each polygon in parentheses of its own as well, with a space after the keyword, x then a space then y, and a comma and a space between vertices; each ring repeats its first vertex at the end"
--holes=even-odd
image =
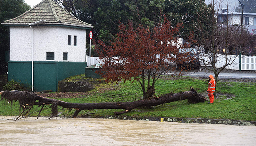
MULTIPOLYGON (((173 74, 174 72, 166 73, 173 74)), ((208 71, 207 69, 200 67, 200 69, 197 70, 189 70, 188 72, 182 72, 184 73, 184 76, 190 76, 190 77, 209 77, 210 74, 214 76, 214 73, 211 71, 208 71)), ((239 71, 239 70, 229 70, 224 69, 221 73, 219 73, 218 78, 256 78, 256 71, 239 71)))

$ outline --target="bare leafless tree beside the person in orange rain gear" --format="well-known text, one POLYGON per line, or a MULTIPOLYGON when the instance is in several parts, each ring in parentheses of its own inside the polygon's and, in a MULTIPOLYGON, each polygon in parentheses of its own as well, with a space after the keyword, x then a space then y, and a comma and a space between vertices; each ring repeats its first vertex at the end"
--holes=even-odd
POLYGON ((248 43, 248 30, 240 24, 233 24, 229 14, 229 5, 221 9, 222 0, 214 0, 199 13, 196 25, 197 45, 202 46, 206 54, 200 56, 206 69, 214 72, 215 80, 219 73, 231 65, 248 43), (222 61, 221 66, 217 62, 222 61))

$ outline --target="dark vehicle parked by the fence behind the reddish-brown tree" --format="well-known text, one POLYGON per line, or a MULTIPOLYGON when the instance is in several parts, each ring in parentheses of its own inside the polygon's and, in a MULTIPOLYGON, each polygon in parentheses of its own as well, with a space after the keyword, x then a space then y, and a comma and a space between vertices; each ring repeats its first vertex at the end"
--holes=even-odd
POLYGON ((184 48, 179 50, 179 54, 182 54, 182 58, 177 57, 176 64, 177 69, 199 69, 200 62, 198 57, 199 51, 195 48, 184 48), (184 56, 186 55, 186 57, 184 56))

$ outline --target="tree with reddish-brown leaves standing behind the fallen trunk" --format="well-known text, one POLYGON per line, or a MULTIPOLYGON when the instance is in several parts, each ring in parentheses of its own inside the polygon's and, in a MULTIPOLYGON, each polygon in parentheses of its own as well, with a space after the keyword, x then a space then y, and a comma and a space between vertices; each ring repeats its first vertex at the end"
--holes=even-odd
POLYGON ((98 73, 108 82, 135 80, 141 85, 143 99, 154 96, 155 82, 161 74, 174 71, 176 57, 185 62, 187 54, 179 54, 179 49, 188 47, 179 44, 178 31, 182 24, 171 27, 164 17, 163 23, 153 30, 142 25, 135 27, 121 24, 116 38, 110 44, 99 40, 99 58, 105 64, 98 73))

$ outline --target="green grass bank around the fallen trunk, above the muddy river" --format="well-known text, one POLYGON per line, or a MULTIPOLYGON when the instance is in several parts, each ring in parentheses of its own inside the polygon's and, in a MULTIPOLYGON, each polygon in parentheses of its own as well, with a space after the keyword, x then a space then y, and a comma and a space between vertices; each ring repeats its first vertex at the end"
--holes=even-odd
MULTIPOLYGON (((156 84, 156 95, 165 93, 177 93, 189 91, 193 87, 197 92, 207 95, 207 79, 200 80, 191 77, 181 77, 178 80, 160 79, 156 84)), ((210 118, 210 119, 234 119, 256 121, 256 83, 255 82, 217 82, 217 97, 214 104, 188 103, 187 100, 175 101, 152 108, 136 108, 123 116, 160 116, 178 118, 210 118)), ((101 88, 89 91, 87 96, 77 98, 62 98, 58 100, 72 103, 96 103, 96 102, 131 102, 142 99, 141 87, 137 82, 120 82, 118 85, 104 84, 101 88), (114 90, 102 88, 113 87, 114 90)), ((51 98, 51 97, 50 97, 51 98)), ((12 107, 0 103, 0 115, 19 115, 18 102, 12 107)), ((36 110, 36 106, 33 108, 36 110)), ((39 111, 37 109, 36 111, 39 111)), ((85 113, 95 113, 91 116, 114 116, 114 111, 122 110, 91 110, 85 113)), ((71 116, 73 111, 59 109, 61 116, 71 116)), ((49 116, 50 109, 41 113, 49 116)), ((36 113, 31 116, 37 116, 36 113)))

